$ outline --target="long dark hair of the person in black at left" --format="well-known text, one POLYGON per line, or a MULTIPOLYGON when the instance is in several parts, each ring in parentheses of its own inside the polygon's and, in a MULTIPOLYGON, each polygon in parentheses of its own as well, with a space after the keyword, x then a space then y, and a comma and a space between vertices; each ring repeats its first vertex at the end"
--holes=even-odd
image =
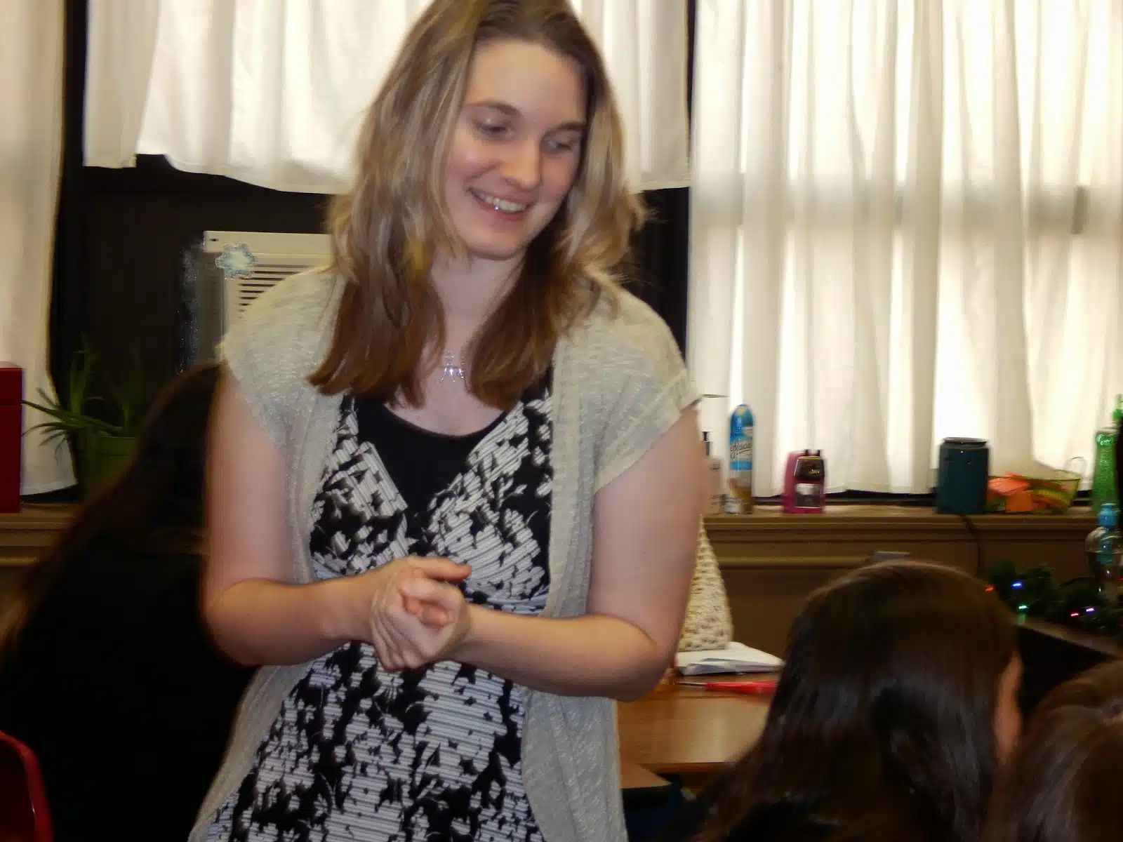
POLYGON ((219 368, 173 379, 137 431, 133 459, 86 501, 42 560, 28 567, 0 612, 0 657, 63 573, 94 546, 158 552, 198 546, 203 528, 207 427, 219 368))

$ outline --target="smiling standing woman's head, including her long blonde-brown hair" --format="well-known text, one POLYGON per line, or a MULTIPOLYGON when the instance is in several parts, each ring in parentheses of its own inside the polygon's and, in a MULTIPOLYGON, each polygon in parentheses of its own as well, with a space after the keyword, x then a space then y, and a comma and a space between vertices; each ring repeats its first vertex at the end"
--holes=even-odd
POLYGON ((313 383, 416 403, 444 330, 433 267, 490 266, 512 281, 469 349, 469 386, 513 402, 612 289, 640 218, 604 64, 567 0, 435 0, 332 209, 347 306, 313 383))

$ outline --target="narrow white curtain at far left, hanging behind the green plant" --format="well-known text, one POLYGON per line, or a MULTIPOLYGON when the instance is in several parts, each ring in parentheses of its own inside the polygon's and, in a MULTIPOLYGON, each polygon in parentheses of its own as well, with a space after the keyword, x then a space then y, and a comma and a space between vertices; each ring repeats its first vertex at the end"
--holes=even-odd
MULTIPOLYGON (((55 210, 62 166, 63 4, 0 2, 0 359, 24 369, 24 394, 54 394, 48 375, 55 210)), ((44 421, 26 410, 25 429, 44 421)), ((24 439, 22 493, 73 485, 66 448, 24 439)))

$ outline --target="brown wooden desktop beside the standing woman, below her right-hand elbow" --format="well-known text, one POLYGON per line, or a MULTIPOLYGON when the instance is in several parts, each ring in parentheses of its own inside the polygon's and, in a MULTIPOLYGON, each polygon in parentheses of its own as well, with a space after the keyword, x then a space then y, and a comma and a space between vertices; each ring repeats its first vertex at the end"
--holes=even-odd
POLYGON ((704 784, 760 738, 768 702, 768 696, 703 690, 673 678, 637 702, 617 705, 620 753, 648 771, 704 784))

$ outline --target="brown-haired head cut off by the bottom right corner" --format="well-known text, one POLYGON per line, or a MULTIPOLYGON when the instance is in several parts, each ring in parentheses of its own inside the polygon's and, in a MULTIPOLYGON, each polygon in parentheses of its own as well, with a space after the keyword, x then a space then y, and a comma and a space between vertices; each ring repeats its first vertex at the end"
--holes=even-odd
POLYGON ((1123 835, 1123 662, 1056 687, 995 794, 986 842, 1116 842, 1123 835))

